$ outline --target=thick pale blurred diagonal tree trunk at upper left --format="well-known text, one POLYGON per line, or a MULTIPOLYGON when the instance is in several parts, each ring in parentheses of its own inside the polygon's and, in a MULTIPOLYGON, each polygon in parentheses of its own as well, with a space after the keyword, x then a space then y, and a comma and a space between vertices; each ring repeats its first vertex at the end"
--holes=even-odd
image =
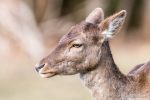
POLYGON ((45 45, 33 12, 22 0, 1 1, 0 26, 33 59, 37 60, 44 54, 45 45))

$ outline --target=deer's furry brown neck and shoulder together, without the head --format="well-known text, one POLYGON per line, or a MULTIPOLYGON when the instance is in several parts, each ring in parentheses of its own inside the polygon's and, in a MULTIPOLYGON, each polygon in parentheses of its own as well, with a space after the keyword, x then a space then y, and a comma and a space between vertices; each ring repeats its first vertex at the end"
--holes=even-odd
MULTIPOLYGON (((92 90, 96 100, 140 99, 150 98, 150 87, 147 70, 150 65, 142 68, 139 75, 122 74, 113 61, 108 42, 102 45, 101 62, 96 69, 81 74, 85 85, 92 90)), ((149 69, 150 70, 150 69, 149 69)), ((150 73, 150 72, 148 72, 150 73)))

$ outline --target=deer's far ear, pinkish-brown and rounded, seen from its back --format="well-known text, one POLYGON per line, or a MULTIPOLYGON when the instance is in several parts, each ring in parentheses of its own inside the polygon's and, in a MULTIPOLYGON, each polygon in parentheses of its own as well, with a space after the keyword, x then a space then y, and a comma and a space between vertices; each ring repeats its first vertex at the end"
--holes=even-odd
POLYGON ((103 19, 103 10, 101 8, 96 8, 86 17, 85 22, 91 24, 99 24, 103 19))

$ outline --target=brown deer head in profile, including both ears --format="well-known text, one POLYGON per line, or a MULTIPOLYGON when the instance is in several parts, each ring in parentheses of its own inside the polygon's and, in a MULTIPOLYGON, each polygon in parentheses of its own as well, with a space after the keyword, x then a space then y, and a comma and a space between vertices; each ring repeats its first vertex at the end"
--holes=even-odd
POLYGON ((106 19, 101 8, 73 26, 54 50, 36 66, 42 77, 73 75, 93 70, 101 59, 102 43, 114 36, 126 17, 122 10, 106 19))

